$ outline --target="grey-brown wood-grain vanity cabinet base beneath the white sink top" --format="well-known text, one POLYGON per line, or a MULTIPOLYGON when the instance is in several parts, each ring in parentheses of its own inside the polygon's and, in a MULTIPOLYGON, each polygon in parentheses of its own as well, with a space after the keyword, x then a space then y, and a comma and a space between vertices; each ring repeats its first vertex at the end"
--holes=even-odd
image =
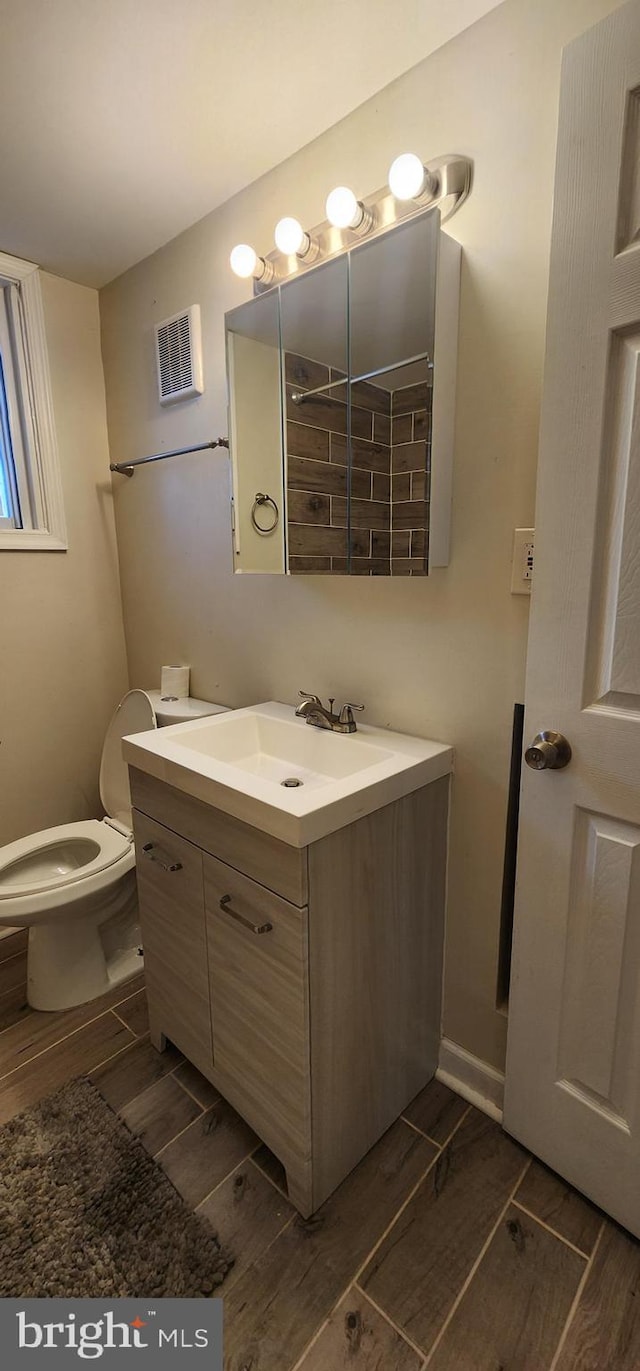
POLYGON ((130 769, 151 1039, 312 1213, 433 1076, 448 776, 292 847, 130 769))

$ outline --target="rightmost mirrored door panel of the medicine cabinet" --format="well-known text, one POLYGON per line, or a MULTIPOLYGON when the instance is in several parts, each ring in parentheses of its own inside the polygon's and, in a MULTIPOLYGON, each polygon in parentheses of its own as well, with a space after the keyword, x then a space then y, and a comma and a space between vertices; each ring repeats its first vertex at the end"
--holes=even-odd
POLYGON ((428 572, 439 233, 436 213, 351 252, 351 570, 365 576, 428 572))

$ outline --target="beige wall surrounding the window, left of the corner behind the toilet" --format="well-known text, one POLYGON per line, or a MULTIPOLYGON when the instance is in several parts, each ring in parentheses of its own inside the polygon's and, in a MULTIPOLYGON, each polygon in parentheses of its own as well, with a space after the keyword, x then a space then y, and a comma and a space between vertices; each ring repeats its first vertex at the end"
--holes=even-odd
POLYGON ((97 292, 42 276, 67 553, 0 553, 0 845, 100 813, 126 690, 97 292))

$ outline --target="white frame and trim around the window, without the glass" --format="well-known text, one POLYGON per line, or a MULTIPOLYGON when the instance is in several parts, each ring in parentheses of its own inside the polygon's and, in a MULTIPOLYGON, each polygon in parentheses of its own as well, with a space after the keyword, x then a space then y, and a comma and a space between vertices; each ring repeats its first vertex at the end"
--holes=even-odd
POLYGON ((11 436, 15 463, 23 463, 26 472, 16 472, 23 526, 7 528, 0 520, 0 551, 62 553, 67 550, 67 531, 38 266, 0 252, 0 288, 7 285, 16 288, 12 324, 19 421, 16 425, 11 413, 11 436), (15 435, 16 426, 19 436, 15 435), (16 446, 22 447, 21 457, 16 446), (23 507, 25 480, 29 511, 23 507))

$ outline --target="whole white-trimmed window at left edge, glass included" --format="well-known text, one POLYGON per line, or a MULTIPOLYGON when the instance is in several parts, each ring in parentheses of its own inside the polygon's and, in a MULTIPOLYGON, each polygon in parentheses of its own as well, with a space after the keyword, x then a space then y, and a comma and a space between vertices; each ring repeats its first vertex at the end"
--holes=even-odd
POLYGON ((0 551, 66 546, 40 273, 0 252, 0 551))

